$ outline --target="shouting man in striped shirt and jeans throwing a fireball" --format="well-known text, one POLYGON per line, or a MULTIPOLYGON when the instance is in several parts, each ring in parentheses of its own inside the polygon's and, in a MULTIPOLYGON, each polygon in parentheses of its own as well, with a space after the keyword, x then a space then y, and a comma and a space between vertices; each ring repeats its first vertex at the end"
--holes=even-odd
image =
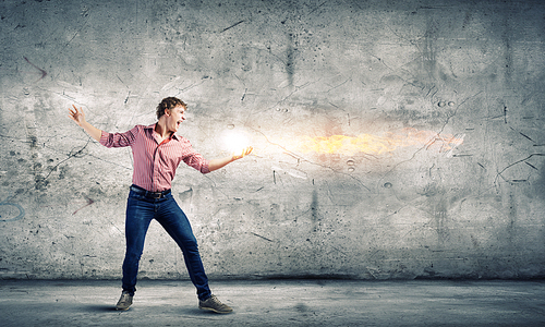
POLYGON ((249 155, 252 147, 230 157, 206 160, 193 150, 186 138, 175 135, 185 120, 184 113, 187 109, 187 106, 175 97, 165 98, 157 106, 157 123, 148 126, 136 125, 124 133, 104 132, 85 120, 82 108, 77 109, 74 105, 72 107, 73 109, 69 109, 70 118, 93 138, 107 147, 130 146, 133 153, 133 184, 130 187, 125 215, 123 291, 116 308, 129 310, 133 303, 146 232, 152 220, 156 219, 183 252, 191 281, 197 289, 198 307, 216 313, 232 312, 231 307, 211 294, 190 221, 172 197, 170 187, 182 160, 202 173, 208 173, 249 155))

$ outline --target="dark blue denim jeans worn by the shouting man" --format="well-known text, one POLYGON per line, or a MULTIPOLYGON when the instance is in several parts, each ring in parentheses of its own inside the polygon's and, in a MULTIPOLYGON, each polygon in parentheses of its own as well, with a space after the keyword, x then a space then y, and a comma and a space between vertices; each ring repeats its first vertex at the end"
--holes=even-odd
POLYGON ((125 239, 126 252, 123 261, 123 291, 134 294, 138 263, 144 251, 144 241, 149 223, 156 219, 169 235, 177 242, 183 253, 185 267, 191 281, 197 289, 199 300, 211 295, 208 278, 204 271, 198 254, 197 240, 193 234, 190 221, 178 206, 171 193, 160 198, 145 195, 145 190, 131 186, 126 202, 125 239))

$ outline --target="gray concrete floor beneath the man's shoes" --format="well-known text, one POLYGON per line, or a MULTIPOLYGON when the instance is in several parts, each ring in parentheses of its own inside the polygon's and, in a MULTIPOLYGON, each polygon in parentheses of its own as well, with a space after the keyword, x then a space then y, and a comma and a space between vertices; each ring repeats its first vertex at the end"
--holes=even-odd
POLYGON ((189 281, 0 280, 0 326, 545 326, 545 281, 211 281, 234 312, 199 311, 189 281))

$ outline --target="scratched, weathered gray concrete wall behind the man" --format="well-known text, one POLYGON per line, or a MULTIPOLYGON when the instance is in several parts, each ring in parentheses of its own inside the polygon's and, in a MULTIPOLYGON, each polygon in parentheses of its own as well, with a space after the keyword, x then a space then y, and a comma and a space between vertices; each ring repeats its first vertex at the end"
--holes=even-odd
MULTIPOLYGON (((0 278, 120 278, 129 148, 190 105, 173 194, 211 278, 545 275, 541 1, 0 4, 0 278)), ((187 278, 153 223, 141 277, 187 278)))

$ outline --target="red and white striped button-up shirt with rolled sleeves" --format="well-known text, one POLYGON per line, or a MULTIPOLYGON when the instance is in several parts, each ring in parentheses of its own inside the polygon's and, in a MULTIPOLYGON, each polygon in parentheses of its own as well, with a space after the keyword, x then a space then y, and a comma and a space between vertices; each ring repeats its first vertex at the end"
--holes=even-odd
POLYGON ((186 138, 172 134, 159 144, 158 136, 155 124, 136 125, 124 133, 102 131, 100 144, 106 147, 130 146, 134 160, 133 184, 147 191, 169 190, 182 160, 202 173, 210 172, 209 161, 197 154, 186 138))

